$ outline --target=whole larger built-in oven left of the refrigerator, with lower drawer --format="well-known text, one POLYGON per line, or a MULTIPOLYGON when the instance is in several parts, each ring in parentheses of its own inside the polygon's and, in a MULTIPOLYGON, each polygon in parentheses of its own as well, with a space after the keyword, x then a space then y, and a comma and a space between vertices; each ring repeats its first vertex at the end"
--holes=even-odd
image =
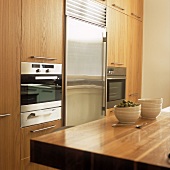
POLYGON ((61 119, 62 65, 21 62, 21 127, 61 119))

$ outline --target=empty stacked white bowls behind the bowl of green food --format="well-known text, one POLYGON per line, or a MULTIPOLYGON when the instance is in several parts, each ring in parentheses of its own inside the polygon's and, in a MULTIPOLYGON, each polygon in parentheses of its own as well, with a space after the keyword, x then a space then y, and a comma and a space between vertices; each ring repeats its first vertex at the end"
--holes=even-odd
POLYGON ((141 117, 146 119, 156 119, 161 113, 163 98, 138 99, 141 104, 141 117))

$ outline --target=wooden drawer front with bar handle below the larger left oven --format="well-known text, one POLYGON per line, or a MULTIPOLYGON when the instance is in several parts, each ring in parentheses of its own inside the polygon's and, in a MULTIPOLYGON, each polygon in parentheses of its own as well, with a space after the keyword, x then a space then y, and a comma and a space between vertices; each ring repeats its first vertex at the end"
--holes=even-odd
POLYGON ((61 127, 62 121, 56 120, 39 125, 21 128, 21 159, 30 156, 30 139, 53 132, 61 127))

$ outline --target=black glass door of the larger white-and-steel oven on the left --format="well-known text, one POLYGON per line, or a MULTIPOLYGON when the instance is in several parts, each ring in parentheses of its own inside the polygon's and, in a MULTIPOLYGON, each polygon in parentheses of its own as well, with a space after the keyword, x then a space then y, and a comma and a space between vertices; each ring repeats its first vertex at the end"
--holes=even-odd
POLYGON ((21 105, 59 101, 61 75, 21 75, 21 105))

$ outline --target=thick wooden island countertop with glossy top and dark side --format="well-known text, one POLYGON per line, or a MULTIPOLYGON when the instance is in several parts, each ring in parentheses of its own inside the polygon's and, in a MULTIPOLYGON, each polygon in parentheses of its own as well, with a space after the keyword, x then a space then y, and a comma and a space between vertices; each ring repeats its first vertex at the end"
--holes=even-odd
POLYGON ((31 161, 66 170, 170 169, 170 107, 141 129, 112 127, 114 116, 31 140, 31 161))

